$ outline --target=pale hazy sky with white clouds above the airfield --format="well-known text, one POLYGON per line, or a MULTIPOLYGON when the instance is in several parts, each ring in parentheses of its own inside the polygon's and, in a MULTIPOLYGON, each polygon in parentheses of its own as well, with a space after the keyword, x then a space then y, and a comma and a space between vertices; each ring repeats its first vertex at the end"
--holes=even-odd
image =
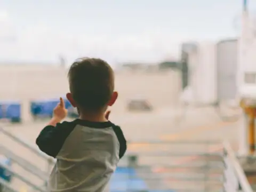
MULTIPOLYGON (((0 62, 159 62, 239 35, 243 0, 0 0, 0 62), (21 3, 22 2, 22 3, 21 3)), ((249 1, 251 13, 256 2, 249 1)))

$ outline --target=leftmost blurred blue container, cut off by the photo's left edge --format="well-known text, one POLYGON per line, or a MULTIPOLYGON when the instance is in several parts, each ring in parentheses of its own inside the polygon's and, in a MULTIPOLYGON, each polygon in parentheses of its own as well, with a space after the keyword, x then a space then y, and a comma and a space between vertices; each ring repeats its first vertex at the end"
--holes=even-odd
POLYGON ((18 101, 0 101, 0 118, 7 118, 13 122, 20 122, 21 103, 18 101))

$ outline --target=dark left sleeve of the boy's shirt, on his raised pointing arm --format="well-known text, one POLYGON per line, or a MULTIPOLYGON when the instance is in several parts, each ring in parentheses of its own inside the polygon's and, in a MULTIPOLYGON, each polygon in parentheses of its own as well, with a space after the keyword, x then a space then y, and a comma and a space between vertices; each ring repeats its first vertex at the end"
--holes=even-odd
POLYGON ((47 125, 38 135, 36 145, 41 151, 55 158, 74 128, 73 122, 62 122, 56 126, 47 125))

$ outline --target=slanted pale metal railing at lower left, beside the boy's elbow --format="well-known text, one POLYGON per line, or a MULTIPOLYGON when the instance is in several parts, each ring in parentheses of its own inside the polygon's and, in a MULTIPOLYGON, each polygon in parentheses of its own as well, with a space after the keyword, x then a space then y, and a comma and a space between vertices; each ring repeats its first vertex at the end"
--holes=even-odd
MULTIPOLYGON (((4 135, 5 138, 7 137, 11 140, 11 142, 9 142, 10 146, 4 145, 4 143, 0 144, 0 155, 11 160, 11 166, 0 162, 0 167, 2 167, 5 172, 8 172, 12 175, 11 182, 7 182, 4 179, 0 180, 2 191, 46 192, 46 181, 49 176, 51 166, 53 165, 53 159, 41 153, 41 151, 39 151, 37 148, 32 147, 27 142, 21 140, 5 129, 1 128, 0 133, 2 136, 4 135), (13 146, 15 146, 13 142, 16 145, 18 144, 19 146, 22 146, 22 151, 25 151, 26 149, 34 155, 28 155, 25 158, 24 155, 13 153, 13 146), (37 159, 35 156, 37 156, 37 159), (35 163, 33 163, 33 161, 38 161, 38 158, 41 159, 41 162, 47 164, 47 169, 45 171, 42 169, 43 166, 38 167, 35 165, 35 163)), ((17 152, 17 149, 15 149, 15 152, 17 152)))

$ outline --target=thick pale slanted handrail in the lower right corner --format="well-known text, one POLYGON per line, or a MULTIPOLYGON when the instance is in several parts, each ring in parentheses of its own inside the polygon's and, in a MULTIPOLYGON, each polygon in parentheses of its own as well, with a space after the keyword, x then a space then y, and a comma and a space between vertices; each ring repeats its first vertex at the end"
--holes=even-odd
POLYGON ((247 180, 246 175, 242 169, 242 166, 239 164, 233 149, 230 147, 230 144, 225 141, 223 142, 223 147, 224 147, 223 149, 225 150, 225 155, 229 157, 231 165, 233 165, 235 174, 238 178, 238 182, 242 190, 244 192, 253 192, 252 187, 249 181, 247 180))

